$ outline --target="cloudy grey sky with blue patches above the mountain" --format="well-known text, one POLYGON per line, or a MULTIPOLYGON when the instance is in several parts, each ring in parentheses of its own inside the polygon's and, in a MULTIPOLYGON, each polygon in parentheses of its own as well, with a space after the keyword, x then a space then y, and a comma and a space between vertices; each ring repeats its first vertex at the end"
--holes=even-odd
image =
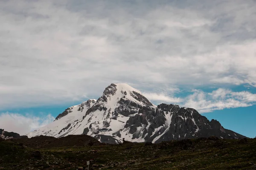
POLYGON ((255 0, 0 0, 0 128, 127 83, 256 135, 255 0))

